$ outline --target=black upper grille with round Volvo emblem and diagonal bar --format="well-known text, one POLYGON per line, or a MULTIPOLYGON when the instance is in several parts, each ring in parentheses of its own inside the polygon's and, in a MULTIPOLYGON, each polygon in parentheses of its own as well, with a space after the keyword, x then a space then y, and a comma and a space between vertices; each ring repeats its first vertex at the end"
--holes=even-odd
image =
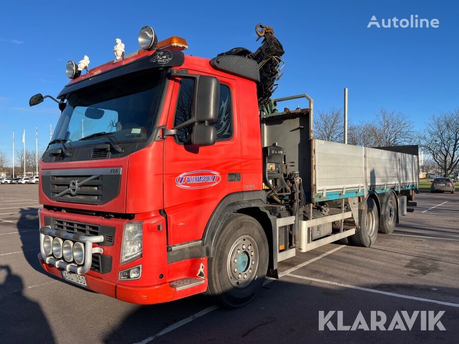
POLYGON ((60 202, 103 204, 120 189, 121 168, 42 171, 44 194, 60 202))

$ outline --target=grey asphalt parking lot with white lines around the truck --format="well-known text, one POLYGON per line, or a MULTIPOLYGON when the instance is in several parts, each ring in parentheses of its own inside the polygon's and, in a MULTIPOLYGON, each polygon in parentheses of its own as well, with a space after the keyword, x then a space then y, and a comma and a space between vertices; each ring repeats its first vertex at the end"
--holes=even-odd
MULTIPOLYGON (((279 263, 246 307, 221 309, 202 296, 139 306, 95 294, 39 266, 38 185, 0 186, 0 338, 3 342, 448 341, 459 336, 459 194, 419 194, 418 207, 372 248, 329 244, 279 263), (444 311, 421 330, 319 330, 319 311, 444 311)), ((427 313, 426 313, 427 314, 427 313)), ((419 315, 420 316, 420 315, 419 315)), ((406 324, 406 322, 403 322, 406 324)), ((337 327, 335 314, 331 325, 337 327)))

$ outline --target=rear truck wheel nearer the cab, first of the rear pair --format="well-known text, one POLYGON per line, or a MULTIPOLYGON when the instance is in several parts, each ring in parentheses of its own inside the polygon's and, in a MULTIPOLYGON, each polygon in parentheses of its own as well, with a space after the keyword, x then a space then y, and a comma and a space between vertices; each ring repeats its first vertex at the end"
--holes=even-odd
POLYGON ((352 246, 370 247, 378 234, 378 209, 372 198, 367 199, 365 208, 360 210, 360 229, 348 237, 352 246))

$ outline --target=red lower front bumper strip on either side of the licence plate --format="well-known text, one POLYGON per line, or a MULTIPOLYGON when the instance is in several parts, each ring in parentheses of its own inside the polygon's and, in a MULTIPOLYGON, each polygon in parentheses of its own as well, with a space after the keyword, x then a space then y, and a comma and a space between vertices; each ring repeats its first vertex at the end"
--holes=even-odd
MULTIPOLYGON (((47 264, 43 260, 41 253, 38 254, 38 260, 46 272, 62 278, 62 270, 47 264)), ((169 283, 152 286, 131 286, 113 283, 92 275, 85 275, 85 277, 88 289, 125 302, 148 305, 172 301, 175 295, 175 288, 170 287, 169 283)))

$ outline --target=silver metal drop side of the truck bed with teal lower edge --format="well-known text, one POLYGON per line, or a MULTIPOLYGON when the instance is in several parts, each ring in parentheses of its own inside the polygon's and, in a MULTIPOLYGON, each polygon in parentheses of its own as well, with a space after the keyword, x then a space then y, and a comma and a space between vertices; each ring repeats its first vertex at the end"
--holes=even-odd
POLYGON ((322 140, 313 140, 313 148, 315 201, 417 189, 416 155, 322 140))

